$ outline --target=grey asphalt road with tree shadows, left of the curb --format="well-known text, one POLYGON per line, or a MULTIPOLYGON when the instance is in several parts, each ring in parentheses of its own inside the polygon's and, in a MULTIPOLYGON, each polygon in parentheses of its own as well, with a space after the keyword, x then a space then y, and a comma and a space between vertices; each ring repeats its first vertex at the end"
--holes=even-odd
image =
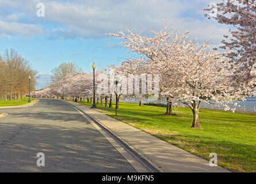
POLYGON ((27 108, 0 109, 0 172, 135 172, 77 110, 40 99, 27 108), (37 153, 45 155, 38 167, 37 153))

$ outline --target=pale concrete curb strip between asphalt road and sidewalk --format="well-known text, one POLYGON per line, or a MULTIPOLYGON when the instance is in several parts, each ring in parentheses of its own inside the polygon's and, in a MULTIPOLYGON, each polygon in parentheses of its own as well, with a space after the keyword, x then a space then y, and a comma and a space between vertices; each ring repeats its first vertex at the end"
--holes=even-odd
POLYGON ((83 110, 79 109, 77 106, 74 106, 73 104, 64 101, 65 103, 71 105, 73 108, 77 108, 80 112, 85 114, 85 116, 89 117, 91 121, 93 121, 95 124, 97 124, 100 128, 102 128, 106 133, 108 133, 117 143, 119 143, 125 150, 127 150, 131 155, 133 155, 140 163, 142 163, 144 166, 146 166, 149 170, 151 170, 153 173, 166 173, 166 171, 159 167, 158 164, 154 163, 151 159, 147 158, 142 152, 134 148, 131 144, 129 144, 127 141, 125 141, 122 137, 111 131, 108 127, 101 124, 101 122, 95 120, 93 117, 91 117, 89 114, 83 112, 83 110))

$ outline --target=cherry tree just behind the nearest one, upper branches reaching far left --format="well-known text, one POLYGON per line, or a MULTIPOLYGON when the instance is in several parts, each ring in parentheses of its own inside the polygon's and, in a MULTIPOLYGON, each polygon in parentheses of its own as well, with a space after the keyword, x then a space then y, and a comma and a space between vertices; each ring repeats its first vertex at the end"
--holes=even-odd
MULTIPOLYGON (((152 37, 142 36, 139 33, 131 32, 131 30, 127 30, 127 32, 128 35, 124 32, 109 33, 109 35, 124 39, 123 44, 129 48, 128 52, 137 52, 139 55, 146 56, 143 63, 144 73, 159 75, 159 94, 160 97, 167 99, 166 114, 171 115, 171 101, 174 98, 173 95, 165 93, 165 83, 169 83, 173 79, 170 76, 165 76, 163 70, 170 67, 169 63, 165 61, 171 61, 174 56, 179 54, 179 44, 185 41, 189 32, 178 34, 178 30, 171 29, 167 24, 159 31, 151 30, 152 37)), ((171 90, 172 88, 168 89, 168 91, 171 90)))

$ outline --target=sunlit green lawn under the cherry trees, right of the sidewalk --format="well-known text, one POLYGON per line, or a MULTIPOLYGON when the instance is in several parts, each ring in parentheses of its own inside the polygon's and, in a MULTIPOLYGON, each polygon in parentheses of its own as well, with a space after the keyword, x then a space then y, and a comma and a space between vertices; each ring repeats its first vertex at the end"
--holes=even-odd
POLYGON ((117 117, 114 108, 97 108, 201 158, 209 160, 209 154, 215 152, 218 165, 230 171, 256 172, 255 114, 201 109, 200 125, 204 129, 192 129, 189 108, 178 108, 177 116, 165 116, 163 107, 120 103, 117 117))

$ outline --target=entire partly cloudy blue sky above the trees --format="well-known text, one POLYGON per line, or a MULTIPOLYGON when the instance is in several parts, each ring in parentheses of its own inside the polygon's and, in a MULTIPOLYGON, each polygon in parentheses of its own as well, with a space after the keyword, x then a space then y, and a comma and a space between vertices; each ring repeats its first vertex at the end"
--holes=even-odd
POLYGON ((133 53, 125 53, 121 40, 108 32, 130 29, 147 32, 168 22, 181 32, 189 30, 197 41, 212 39, 220 45, 228 28, 207 20, 204 11, 219 0, 96 0, 39 1, 0 0, 0 52, 14 48, 32 64, 41 78, 37 88, 47 85, 51 70, 62 62, 75 62, 90 72, 91 64, 105 68, 133 53), (37 3, 45 5, 45 17, 37 17, 37 3))

